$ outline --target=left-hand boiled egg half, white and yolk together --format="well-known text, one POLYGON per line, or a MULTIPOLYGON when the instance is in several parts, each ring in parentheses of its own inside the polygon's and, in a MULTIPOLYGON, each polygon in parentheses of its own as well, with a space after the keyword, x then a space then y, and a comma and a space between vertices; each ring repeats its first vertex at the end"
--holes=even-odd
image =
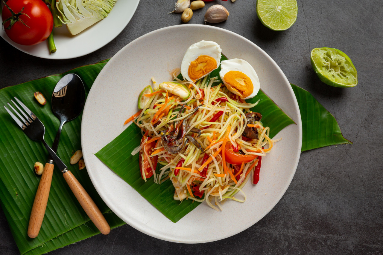
POLYGON ((200 41, 190 45, 183 56, 181 74, 195 82, 219 67, 221 47, 216 42, 200 41))

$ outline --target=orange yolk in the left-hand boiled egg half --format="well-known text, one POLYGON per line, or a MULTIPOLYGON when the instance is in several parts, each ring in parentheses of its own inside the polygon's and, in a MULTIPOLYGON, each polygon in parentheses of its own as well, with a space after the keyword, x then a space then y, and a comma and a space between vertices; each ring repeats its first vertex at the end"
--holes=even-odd
POLYGON ((214 58, 208 55, 201 55, 190 62, 188 74, 190 79, 195 82, 216 68, 217 61, 214 58))

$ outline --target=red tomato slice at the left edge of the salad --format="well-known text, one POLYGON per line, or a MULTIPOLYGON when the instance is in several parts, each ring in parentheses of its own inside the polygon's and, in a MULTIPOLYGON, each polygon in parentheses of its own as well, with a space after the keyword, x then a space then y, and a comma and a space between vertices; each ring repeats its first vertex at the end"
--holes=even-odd
MULTIPOLYGON (((149 140, 149 139, 150 138, 147 137, 147 136, 142 136, 141 144, 142 143, 146 143, 146 141, 149 140)), ((142 172, 145 173, 146 179, 152 177, 152 175, 153 175, 152 167, 149 164, 149 160, 151 161, 152 166, 154 167, 154 169, 157 167, 158 156, 154 156, 154 157, 150 157, 149 158, 149 156, 155 150, 155 147, 156 147, 156 141, 152 141, 151 143, 145 144, 142 147, 142 149, 140 150, 140 153, 139 153, 139 166, 140 166, 140 173, 141 173, 142 179, 144 179, 144 176, 142 175, 142 172), (144 169, 144 171, 142 171, 142 169, 144 169)))

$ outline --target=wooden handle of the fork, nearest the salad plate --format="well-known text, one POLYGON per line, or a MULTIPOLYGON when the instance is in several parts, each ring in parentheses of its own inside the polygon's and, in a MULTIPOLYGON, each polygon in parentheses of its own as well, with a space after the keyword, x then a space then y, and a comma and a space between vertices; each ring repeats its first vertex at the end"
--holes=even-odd
POLYGON ((89 194, 85 191, 80 182, 70 171, 65 172, 63 175, 75 197, 80 202, 80 205, 84 209, 85 213, 87 213, 98 230, 100 230, 100 232, 104 235, 109 234, 109 224, 106 222, 106 219, 102 215, 100 209, 98 209, 97 205, 92 200, 92 198, 90 198, 89 194))

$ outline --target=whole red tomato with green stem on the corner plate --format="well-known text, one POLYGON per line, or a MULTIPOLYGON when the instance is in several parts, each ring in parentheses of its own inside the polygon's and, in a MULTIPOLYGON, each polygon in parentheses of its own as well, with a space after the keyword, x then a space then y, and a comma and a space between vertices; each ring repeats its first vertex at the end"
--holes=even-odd
POLYGON ((5 33, 12 41, 21 45, 33 45, 43 42, 51 34, 53 17, 44 1, 8 0, 6 4, 13 13, 4 6, 3 21, 8 18, 10 20, 3 25, 5 33), (11 25, 13 20, 15 23, 11 25))

